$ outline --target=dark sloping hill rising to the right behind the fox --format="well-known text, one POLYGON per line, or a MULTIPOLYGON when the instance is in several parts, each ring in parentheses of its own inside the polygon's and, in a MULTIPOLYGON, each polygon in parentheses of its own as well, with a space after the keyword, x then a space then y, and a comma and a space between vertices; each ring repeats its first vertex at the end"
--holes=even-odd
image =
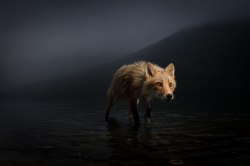
POLYGON ((134 54, 84 71, 81 77, 29 84, 12 94, 73 95, 106 101, 115 71, 123 64, 145 60, 162 67, 174 63, 176 108, 243 107, 250 93, 249 29, 250 21, 186 29, 134 54))

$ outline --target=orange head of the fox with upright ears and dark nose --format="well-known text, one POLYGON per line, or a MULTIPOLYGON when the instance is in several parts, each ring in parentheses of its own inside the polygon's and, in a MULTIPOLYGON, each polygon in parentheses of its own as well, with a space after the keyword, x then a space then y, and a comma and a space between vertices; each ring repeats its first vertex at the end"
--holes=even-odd
POLYGON ((144 89, 146 93, 163 101, 171 101, 176 88, 174 64, 170 63, 165 69, 162 69, 148 62, 146 67, 147 80, 144 89))

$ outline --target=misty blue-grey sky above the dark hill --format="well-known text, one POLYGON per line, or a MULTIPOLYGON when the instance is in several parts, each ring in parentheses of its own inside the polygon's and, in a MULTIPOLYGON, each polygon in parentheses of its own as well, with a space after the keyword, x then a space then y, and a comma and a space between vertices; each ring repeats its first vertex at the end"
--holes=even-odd
POLYGON ((32 80, 53 59, 127 55, 186 27, 247 19, 249 9, 249 0, 2 0, 0 86, 32 80))

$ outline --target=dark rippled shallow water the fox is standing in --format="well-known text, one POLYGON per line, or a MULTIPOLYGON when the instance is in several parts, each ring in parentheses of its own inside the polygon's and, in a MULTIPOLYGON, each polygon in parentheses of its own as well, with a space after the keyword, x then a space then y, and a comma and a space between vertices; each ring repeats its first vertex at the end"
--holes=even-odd
POLYGON ((250 165, 248 113, 153 108, 146 125, 140 109, 134 127, 127 108, 112 109, 109 122, 104 110, 91 102, 1 103, 0 165, 250 165))

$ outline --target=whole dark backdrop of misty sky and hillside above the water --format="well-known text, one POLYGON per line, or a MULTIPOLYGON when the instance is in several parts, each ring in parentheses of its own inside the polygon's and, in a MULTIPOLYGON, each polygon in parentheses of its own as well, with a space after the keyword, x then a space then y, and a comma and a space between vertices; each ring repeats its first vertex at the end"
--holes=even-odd
MULTIPOLYGON (((246 110, 250 1, 1 1, 0 95, 107 101, 134 61, 176 68, 171 109, 246 110)), ((167 105, 167 106, 166 106, 167 105)))

